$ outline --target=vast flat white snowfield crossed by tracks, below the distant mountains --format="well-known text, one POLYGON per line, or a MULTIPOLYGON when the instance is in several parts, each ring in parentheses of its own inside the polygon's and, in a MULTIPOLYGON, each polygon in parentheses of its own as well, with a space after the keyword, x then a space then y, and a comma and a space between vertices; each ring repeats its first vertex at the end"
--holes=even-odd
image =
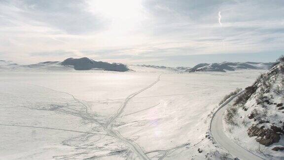
POLYGON ((0 72, 0 160, 204 159, 213 109, 264 72, 136 71, 0 72))

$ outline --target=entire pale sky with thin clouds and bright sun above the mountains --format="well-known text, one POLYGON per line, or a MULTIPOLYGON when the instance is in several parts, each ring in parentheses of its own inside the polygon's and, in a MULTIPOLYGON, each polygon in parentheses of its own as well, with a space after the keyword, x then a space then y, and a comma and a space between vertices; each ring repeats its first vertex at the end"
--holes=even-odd
POLYGON ((274 61, 284 0, 0 0, 0 60, 274 61))

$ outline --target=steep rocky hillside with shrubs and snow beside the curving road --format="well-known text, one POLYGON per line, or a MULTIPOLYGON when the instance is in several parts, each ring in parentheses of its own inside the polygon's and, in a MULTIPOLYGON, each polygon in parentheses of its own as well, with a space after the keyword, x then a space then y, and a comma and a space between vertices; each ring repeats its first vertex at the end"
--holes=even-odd
POLYGON ((243 147, 284 159, 284 58, 245 89, 224 121, 228 135, 243 147))

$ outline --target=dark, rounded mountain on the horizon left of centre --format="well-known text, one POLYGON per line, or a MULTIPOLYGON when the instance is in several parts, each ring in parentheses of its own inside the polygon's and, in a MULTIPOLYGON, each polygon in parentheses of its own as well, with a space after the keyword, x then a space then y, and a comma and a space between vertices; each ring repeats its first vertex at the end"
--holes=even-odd
POLYGON ((74 66, 75 70, 92 70, 92 69, 102 69, 105 71, 118 71, 125 72, 129 71, 126 65, 118 63, 107 63, 107 62, 98 62, 87 57, 83 58, 68 58, 64 60, 60 65, 64 66, 74 66))

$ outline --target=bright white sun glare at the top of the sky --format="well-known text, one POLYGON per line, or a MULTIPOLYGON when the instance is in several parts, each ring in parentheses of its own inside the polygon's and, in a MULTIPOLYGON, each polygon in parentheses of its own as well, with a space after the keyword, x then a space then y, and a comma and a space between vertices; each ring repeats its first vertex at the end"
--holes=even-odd
POLYGON ((142 0, 89 0, 88 6, 90 12, 109 22, 107 29, 96 35, 103 37, 101 43, 130 44, 143 39, 132 38, 132 33, 140 30, 146 19, 142 0))

